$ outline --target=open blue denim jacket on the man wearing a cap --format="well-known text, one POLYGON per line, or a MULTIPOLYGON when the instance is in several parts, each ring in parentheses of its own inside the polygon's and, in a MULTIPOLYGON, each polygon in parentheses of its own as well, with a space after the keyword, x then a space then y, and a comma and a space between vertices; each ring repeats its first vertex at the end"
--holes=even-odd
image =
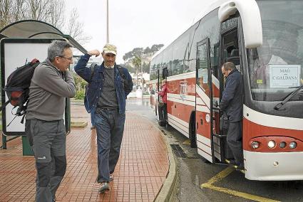
MULTIPOLYGON (((104 83, 104 62, 95 68, 93 71, 93 76, 91 76, 91 68, 86 68, 89 58, 91 55, 85 54, 82 55, 77 65, 75 66, 76 73, 88 82, 88 89, 86 92, 86 110, 91 112, 92 109, 95 109, 99 97, 101 97, 103 83, 104 83)), ((125 100, 126 96, 133 90, 133 82, 128 70, 123 68, 123 78, 118 71, 118 65, 115 65, 115 91, 117 93, 118 106, 120 115, 125 113, 125 100), (125 83, 130 83, 131 85, 125 85, 125 83), (125 86, 125 87, 124 87, 125 86)))

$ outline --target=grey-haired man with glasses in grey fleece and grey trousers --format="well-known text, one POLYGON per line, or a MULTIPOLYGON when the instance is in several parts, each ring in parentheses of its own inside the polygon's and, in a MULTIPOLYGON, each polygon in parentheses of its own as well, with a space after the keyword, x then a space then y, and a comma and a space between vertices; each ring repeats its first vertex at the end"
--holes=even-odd
POLYGON ((73 63, 71 45, 53 41, 48 56, 31 78, 26 110, 26 135, 36 160, 36 201, 56 201, 56 190, 66 172, 66 97, 76 85, 68 70, 73 63))

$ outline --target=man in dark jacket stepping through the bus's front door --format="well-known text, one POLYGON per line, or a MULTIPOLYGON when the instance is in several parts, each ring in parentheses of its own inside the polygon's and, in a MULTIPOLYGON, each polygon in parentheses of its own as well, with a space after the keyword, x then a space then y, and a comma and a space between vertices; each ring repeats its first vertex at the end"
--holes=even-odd
POLYGON ((227 62, 222 65, 222 74, 225 76, 225 89, 223 90, 220 110, 226 112, 230 121, 227 131, 227 144, 235 157, 235 164, 244 169, 242 151, 242 75, 234 63, 227 62))

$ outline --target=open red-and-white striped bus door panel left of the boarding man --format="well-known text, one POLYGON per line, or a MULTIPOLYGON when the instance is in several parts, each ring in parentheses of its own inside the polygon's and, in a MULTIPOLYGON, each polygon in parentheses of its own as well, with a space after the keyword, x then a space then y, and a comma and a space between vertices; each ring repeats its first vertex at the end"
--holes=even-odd
POLYGON ((196 106, 195 124, 197 137, 197 151, 207 161, 213 162, 210 92, 212 90, 212 77, 210 76, 210 38, 197 43, 196 65, 196 106))

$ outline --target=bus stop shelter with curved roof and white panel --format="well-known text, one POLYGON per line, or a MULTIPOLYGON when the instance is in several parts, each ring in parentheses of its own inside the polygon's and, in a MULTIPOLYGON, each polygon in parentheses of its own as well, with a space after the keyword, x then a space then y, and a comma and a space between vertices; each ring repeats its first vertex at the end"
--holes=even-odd
MULTIPOLYGON (((25 20, 11 23, 0 31, 0 66, 1 66, 1 105, 8 100, 3 90, 9 75, 17 68, 34 58, 43 61, 47 57, 47 48, 53 40, 67 41, 82 53, 86 50, 71 36, 63 34, 58 28, 43 21, 25 20)), ((66 98, 65 125, 66 133, 71 130, 71 105, 66 98)), ((15 117, 13 106, 7 105, 2 110, 2 149, 6 149, 7 137, 12 139, 22 136, 23 154, 31 155, 31 149, 24 137, 24 124, 21 117, 15 117), (11 122, 11 124, 9 124, 11 122)))

